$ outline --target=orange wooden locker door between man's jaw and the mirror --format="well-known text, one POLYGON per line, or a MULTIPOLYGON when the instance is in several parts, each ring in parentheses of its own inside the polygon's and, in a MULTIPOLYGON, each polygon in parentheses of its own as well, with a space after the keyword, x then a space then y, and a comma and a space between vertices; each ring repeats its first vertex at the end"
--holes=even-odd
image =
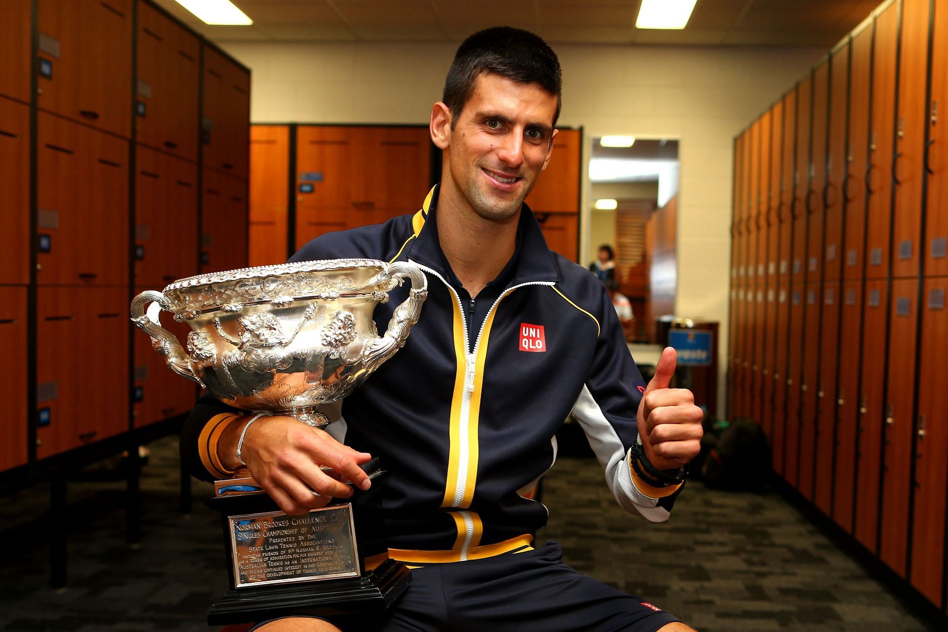
MULTIPOLYGON (((428 129, 424 130, 428 138, 428 129)), ((428 143, 430 140, 428 138, 428 143)), ((428 144, 426 143, 426 145, 428 144)), ((579 212, 580 155, 582 134, 579 130, 560 130, 554 139, 553 155, 537 185, 527 195, 527 206, 540 211, 579 212)), ((428 172, 428 166, 422 169, 428 172)), ((574 260, 575 261, 575 260, 574 260)))

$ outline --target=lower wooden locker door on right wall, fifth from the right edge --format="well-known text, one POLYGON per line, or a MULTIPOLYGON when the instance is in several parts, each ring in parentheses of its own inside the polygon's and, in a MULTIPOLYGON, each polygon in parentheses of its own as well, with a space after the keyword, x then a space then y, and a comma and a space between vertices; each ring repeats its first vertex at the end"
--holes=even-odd
MULTIPOLYGON (((819 378, 816 384, 816 429, 813 454, 813 502, 832 515, 833 459, 836 442, 836 369, 839 352, 840 284, 823 285, 819 378)), ((855 366, 855 365, 853 365, 855 366)))

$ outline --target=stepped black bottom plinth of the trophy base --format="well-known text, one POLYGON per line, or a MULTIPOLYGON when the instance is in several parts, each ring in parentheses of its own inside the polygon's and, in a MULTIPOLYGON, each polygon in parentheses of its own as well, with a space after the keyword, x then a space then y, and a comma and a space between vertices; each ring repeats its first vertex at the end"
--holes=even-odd
POLYGON ((390 559, 359 577, 231 590, 210 606, 208 625, 381 611, 405 592, 410 580, 405 563, 390 559))

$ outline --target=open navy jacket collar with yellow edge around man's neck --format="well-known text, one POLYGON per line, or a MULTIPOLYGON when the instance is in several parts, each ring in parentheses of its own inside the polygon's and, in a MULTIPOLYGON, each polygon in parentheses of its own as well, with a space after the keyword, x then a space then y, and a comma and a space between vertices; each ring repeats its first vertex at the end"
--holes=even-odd
MULTIPOLYGON (((441 243, 438 241, 436 226, 438 189, 439 185, 435 185, 428 191, 425 204, 412 218, 411 226, 414 234, 403 256, 431 268, 445 279, 456 279, 441 249, 441 243)), ((531 281, 558 282, 559 275, 556 272, 553 253, 546 244, 536 216, 526 204, 520 208, 520 225, 517 228, 517 235, 517 251, 513 257, 515 269, 510 285, 531 281)))

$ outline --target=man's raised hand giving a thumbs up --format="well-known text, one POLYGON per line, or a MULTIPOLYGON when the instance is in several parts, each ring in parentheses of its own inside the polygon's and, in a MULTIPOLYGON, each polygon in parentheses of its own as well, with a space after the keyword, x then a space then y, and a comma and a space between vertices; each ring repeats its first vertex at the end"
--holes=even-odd
POLYGON ((677 470, 698 456, 702 441, 702 409, 687 388, 668 388, 677 354, 665 347, 639 403, 639 436, 648 462, 658 470, 677 470))

